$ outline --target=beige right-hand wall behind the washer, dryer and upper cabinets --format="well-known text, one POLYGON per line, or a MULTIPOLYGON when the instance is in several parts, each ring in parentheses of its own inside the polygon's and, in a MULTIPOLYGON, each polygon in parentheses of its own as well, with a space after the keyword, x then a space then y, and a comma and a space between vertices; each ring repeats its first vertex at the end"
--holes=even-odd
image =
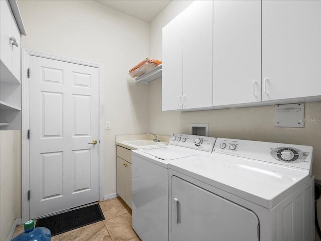
MULTIPOLYGON (((162 59, 162 28, 191 1, 173 1, 150 25, 150 56, 162 59)), ((246 140, 310 145, 314 147, 313 173, 321 179, 321 123, 306 123, 304 128, 274 127, 274 106, 231 108, 193 112, 162 112, 162 79, 149 89, 149 129, 171 135, 189 133, 190 123, 208 123, 209 135, 246 140)), ((306 103, 305 119, 321 119, 321 102, 306 103)), ((321 200, 318 202, 321 220, 321 200)), ((316 234, 316 240, 318 236, 316 234)))

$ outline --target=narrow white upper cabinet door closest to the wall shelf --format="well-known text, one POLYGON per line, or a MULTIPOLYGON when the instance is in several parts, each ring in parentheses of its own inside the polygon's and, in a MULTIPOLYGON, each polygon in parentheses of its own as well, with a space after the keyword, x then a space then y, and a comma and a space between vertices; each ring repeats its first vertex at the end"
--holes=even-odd
POLYGON ((182 109, 183 14, 163 28, 162 110, 182 109))

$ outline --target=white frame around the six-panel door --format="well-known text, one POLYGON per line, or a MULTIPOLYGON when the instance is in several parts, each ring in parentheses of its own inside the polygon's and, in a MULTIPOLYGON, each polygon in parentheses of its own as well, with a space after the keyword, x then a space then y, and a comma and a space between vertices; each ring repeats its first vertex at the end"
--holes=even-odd
MULTIPOLYGON (((29 78, 27 71, 29 68, 29 56, 59 60, 73 64, 86 65, 99 69, 99 201, 104 200, 103 183, 104 183, 104 115, 103 115, 103 65, 79 59, 73 59, 58 55, 47 54, 44 52, 22 49, 22 68, 21 68, 21 214, 22 223, 29 220, 29 139, 27 132, 29 130, 29 78)), ((32 72, 31 72, 32 74, 32 72)), ((32 135, 32 132, 31 132, 32 135)))

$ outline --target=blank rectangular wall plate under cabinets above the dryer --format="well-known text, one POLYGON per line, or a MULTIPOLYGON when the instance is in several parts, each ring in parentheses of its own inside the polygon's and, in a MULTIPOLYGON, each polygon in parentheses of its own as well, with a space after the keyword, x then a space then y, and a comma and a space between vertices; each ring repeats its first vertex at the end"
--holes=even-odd
POLYGON ((274 106, 275 127, 304 127, 304 103, 274 106))

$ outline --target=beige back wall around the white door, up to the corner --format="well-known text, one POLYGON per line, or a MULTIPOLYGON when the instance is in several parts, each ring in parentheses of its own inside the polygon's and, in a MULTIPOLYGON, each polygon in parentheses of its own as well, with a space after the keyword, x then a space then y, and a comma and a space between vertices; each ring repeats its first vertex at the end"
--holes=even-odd
MULTIPOLYGON (((148 86, 128 70, 149 54, 149 24, 95 1, 18 0, 22 47, 103 64, 104 195, 116 192, 115 135, 149 130, 148 86)), ((32 70, 31 70, 32 71, 32 70)))

